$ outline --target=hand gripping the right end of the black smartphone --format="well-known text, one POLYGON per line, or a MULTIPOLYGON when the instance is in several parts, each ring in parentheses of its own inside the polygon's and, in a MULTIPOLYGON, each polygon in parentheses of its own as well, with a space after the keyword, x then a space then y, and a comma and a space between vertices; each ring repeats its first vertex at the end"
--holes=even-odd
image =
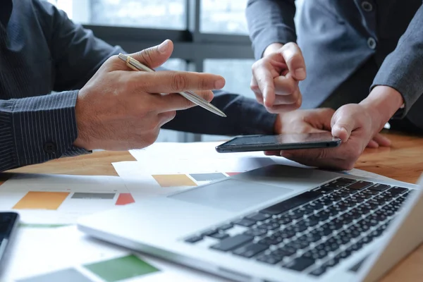
POLYGON ((386 123, 370 103, 347 104, 333 114, 331 132, 342 141, 340 147, 325 149, 302 149, 281 152, 281 156, 307 166, 339 170, 353 169, 364 148, 373 142, 390 145, 379 135, 386 123), (375 114, 376 113, 376 114, 375 114))

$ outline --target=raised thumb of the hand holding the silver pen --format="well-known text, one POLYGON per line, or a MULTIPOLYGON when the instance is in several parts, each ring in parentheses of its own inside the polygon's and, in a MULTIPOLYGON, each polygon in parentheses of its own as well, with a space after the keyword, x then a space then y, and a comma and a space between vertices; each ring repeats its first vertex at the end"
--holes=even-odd
POLYGON ((157 68, 165 63, 173 52, 173 42, 166 39, 160 45, 149 47, 142 51, 139 51, 128 56, 132 56, 133 59, 140 61, 149 68, 157 68))

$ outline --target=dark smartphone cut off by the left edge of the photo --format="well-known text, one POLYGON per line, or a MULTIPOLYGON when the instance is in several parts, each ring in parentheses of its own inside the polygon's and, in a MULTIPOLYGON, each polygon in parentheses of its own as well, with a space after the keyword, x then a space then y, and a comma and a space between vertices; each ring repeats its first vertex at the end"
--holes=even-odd
POLYGON ((15 238, 18 223, 19 214, 16 212, 0 212, 0 271, 15 238))

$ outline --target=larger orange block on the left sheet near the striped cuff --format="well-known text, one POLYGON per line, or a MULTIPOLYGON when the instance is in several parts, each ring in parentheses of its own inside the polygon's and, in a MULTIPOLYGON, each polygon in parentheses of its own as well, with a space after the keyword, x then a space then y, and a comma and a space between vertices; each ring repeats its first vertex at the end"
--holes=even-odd
POLYGON ((59 209, 68 192, 27 192, 13 209, 59 209))

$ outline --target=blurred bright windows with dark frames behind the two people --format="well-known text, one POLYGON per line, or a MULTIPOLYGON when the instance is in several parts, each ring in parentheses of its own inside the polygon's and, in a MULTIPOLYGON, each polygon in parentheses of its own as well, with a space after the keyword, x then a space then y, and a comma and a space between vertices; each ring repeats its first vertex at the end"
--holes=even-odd
MULTIPOLYGON (((46 0, 106 42, 133 52, 172 39, 166 68, 216 73, 224 90, 255 98, 250 90, 254 63, 248 37, 247 0, 46 0)), ((303 0, 297 0, 300 8, 303 0)), ((161 130, 158 142, 226 139, 161 130)))

